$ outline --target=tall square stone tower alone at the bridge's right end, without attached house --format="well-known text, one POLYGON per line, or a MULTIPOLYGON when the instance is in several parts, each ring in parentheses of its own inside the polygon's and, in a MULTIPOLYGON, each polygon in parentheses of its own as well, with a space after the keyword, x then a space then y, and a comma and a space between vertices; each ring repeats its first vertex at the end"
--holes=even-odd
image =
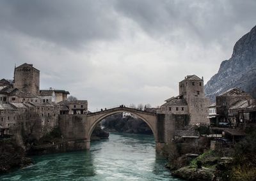
POLYGON ((183 95, 188 103, 190 123, 207 123, 207 106, 209 99, 204 95, 204 78, 188 75, 179 82, 179 94, 183 95))

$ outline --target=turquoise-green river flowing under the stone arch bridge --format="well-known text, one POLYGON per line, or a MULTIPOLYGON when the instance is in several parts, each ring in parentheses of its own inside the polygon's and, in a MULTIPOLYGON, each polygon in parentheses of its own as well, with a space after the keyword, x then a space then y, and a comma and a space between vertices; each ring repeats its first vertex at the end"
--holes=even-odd
POLYGON ((154 137, 110 134, 90 151, 33 157, 35 164, 0 176, 0 180, 179 180, 164 168, 154 137))

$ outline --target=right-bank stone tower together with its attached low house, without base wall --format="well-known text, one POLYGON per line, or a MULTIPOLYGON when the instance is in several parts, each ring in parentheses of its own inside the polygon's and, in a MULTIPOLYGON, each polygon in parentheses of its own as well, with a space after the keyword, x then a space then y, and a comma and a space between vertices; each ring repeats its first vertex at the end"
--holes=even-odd
POLYGON ((190 124, 208 123, 209 100, 204 95, 204 79, 188 75, 179 82, 179 96, 166 100, 161 112, 189 115, 190 124))

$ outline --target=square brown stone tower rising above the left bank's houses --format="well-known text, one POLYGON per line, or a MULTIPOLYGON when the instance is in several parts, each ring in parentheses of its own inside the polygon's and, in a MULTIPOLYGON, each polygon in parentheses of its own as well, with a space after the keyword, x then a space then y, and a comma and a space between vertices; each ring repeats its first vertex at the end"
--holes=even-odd
POLYGON ((13 87, 20 91, 39 95, 40 71, 33 64, 22 64, 14 70, 13 87))

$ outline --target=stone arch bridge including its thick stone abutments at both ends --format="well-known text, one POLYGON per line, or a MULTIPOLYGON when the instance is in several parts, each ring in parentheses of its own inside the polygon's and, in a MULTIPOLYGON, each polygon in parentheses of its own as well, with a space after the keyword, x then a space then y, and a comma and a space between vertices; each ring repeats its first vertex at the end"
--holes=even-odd
POLYGON ((147 123, 154 134, 156 150, 164 142, 164 115, 146 112, 124 106, 102 110, 84 115, 60 115, 59 126, 67 140, 76 142, 77 149, 90 149, 90 138, 97 124, 104 118, 115 113, 127 112, 136 115, 147 123))

